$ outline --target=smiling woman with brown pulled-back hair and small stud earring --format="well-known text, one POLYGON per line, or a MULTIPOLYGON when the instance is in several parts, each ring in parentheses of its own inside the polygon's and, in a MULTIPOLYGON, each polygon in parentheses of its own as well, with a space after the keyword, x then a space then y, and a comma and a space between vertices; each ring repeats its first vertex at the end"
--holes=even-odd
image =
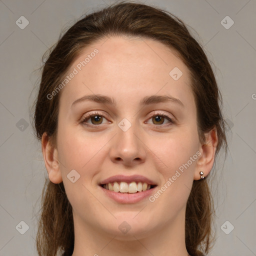
POLYGON ((220 104, 201 46, 171 13, 121 2, 78 20, 35 102, 48 173, 38 254, 206 254, 220 104))

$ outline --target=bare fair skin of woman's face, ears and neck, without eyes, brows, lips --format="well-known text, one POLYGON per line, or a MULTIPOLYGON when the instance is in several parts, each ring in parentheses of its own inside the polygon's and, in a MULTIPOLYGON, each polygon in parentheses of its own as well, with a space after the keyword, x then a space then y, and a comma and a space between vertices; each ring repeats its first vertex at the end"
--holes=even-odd
POLYGON ((205 133, 205 144, 199 141, 188 68, 158 41, 115 36, 84 48, 67 73, 95 48, 99 52, 60 92, 57 144, 52 145, 46 133, 41 140, 49 179, 63 181, 72 205, 72 256, 187 255, 186 201, 193 180, 200 179, 199 172, 203 170, 204 176, 210 172, 217 145, 214 130, 205 133), (169 75, 174 67, 183 73, 176 81, 169 75), (84 101, 71 107, 88 94, 113 97, 116 106, 84 101), (171 95, 183 106, 174 102, 138 105, 144 96, 155 94, 171 95), (87 120, 96 128, 79 123, 93 110, 104 117, 101 123, 87 120), (153 122, 154 110, 175 123, 166 118, 163 123, 153 122), (131 123, 125 132, 117 125, 123 118, 131 123), (140 174, 161 187, 197 151, 200 156, 154 202, 145 198, 117 203, 98 186, 112 175, 140 174), (72 169, 80 174, 74 183, 67 178, 72 169), (125 234, 118 228, 123 221, 131 227, 125 234))

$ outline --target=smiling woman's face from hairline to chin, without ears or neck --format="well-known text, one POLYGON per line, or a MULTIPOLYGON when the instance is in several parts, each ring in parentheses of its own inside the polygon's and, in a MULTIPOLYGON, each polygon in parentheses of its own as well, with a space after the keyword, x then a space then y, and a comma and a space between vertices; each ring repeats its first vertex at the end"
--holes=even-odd
POLYGON ((185 64, 158 41, 109 37, 86 47, 67 75, 56 158, 75 229, 132 239, 184 225, 202 152, 185 64), (114 103, 96 102, 95 94, 114 103), (100 184, 115 175, 125 176, 113 178, 118 184, 148 179, 156 186, 106 191, 100 184))

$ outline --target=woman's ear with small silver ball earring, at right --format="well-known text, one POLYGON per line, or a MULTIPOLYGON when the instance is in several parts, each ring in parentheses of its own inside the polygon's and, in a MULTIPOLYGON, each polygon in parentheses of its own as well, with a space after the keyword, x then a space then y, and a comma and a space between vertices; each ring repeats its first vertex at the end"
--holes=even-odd
POLYGON ((215 151, 217 146, 217 132, 215 127, 209 132, 205 133, 206 143, 201 144, 199 151, 201 152, 198 157, 196 168, 194 172, 194 180, 200 179, 200 171, 203 171, 203 176, 206 177, 214 163, 215 151))

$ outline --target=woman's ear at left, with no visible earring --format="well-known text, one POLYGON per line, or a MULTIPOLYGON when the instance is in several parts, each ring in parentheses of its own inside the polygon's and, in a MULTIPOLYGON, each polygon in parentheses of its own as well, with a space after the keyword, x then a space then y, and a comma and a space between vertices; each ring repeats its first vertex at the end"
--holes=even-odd
POLYGON ((42 134, 41 146, 49 180, 55 184, 60 183, 62 176, 59 168, 57 148, 53 146, 46 132, 42 134))

